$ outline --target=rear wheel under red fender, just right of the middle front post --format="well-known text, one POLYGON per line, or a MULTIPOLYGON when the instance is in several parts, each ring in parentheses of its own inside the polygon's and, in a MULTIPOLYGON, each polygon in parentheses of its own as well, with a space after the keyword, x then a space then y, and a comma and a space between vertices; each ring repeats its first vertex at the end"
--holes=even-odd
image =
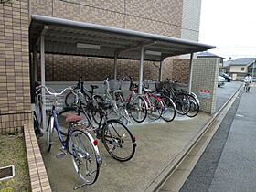
POLYGON ((150 101, 150 106, 148 106, 147 111, 148 118, 153 121, 160 119, 164 110, 163 101, 161 101, 161 99, 158 99, 154 95, 150 95, 148 99, 150 101))

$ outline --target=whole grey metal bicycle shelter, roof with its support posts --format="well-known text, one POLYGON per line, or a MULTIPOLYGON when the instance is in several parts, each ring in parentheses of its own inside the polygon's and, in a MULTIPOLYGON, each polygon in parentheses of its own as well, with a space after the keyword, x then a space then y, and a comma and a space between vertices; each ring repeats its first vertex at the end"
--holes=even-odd
MULTIPOLYGON (((37 52, 40 53, 42 85, 45 85, 45 53, 114 59, 114 79, 117 78, 117 59, 140 60, 138 91, 142 93, 144 60, 160 63, 159 80, 162 80, 162 62, 165 58, 190 54, 188 90, 191 91, 193 54, 215 48, 175 37, 38 15, 31 16, 29 41, 29 50, 33 52, 30 65, 32 97, 37 80, 37 52)), ((42 94, 45 95, 44 89, 42 94)), ((45 120, 44 104, 42 111, 45 120)), ((45 121, 43 126, 46 126, 45 121)))

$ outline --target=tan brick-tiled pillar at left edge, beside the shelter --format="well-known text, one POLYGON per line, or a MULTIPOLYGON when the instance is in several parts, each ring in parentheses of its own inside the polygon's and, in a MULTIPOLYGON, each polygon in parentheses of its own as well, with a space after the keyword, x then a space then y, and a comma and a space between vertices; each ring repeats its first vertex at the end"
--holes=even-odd
POLYGON ((0 5, 0 134, 31 120, 28 0, 0 5))

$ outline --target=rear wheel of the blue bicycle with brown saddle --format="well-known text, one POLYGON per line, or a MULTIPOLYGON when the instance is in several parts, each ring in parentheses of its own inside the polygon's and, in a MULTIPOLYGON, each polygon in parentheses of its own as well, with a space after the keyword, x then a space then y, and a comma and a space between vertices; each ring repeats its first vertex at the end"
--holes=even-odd
POLYGON ((74 130, 69 136, 69 153, 78 176, 92 185, 100 174, 99 151, 95 149, 92 137, 81 130, 74 130), (84 169, 85 170, 84 170, 84 169))

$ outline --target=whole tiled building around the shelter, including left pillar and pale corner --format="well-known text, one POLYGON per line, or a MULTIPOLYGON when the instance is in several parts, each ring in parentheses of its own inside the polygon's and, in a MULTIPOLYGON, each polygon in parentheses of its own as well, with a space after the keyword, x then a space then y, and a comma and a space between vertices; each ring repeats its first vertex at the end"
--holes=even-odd
MULTIPOLYGON (((200 0, 14 0, 13 4, 0 5, 0 133, 20 130, 24 123, 32 120, 28 49, 31 15, 197 41, 200 5, 200 0)), ((168 77, 186 83, 189 60, 176 59, 165 59, 163 79, 168 77)), ((119 59, 118 76, 138 77, 138 62, 119 59)), ((113 59, 46 55, 47 81, 74 81, 80 75, 84 80, 99 81, 107 76, 112 78, 112 69, 113 59)), ((157 79, 158 69, 159 63, 145 62, 144 79, 157 79)), ((39 69, 37 74, 40 80, 39 69)))

